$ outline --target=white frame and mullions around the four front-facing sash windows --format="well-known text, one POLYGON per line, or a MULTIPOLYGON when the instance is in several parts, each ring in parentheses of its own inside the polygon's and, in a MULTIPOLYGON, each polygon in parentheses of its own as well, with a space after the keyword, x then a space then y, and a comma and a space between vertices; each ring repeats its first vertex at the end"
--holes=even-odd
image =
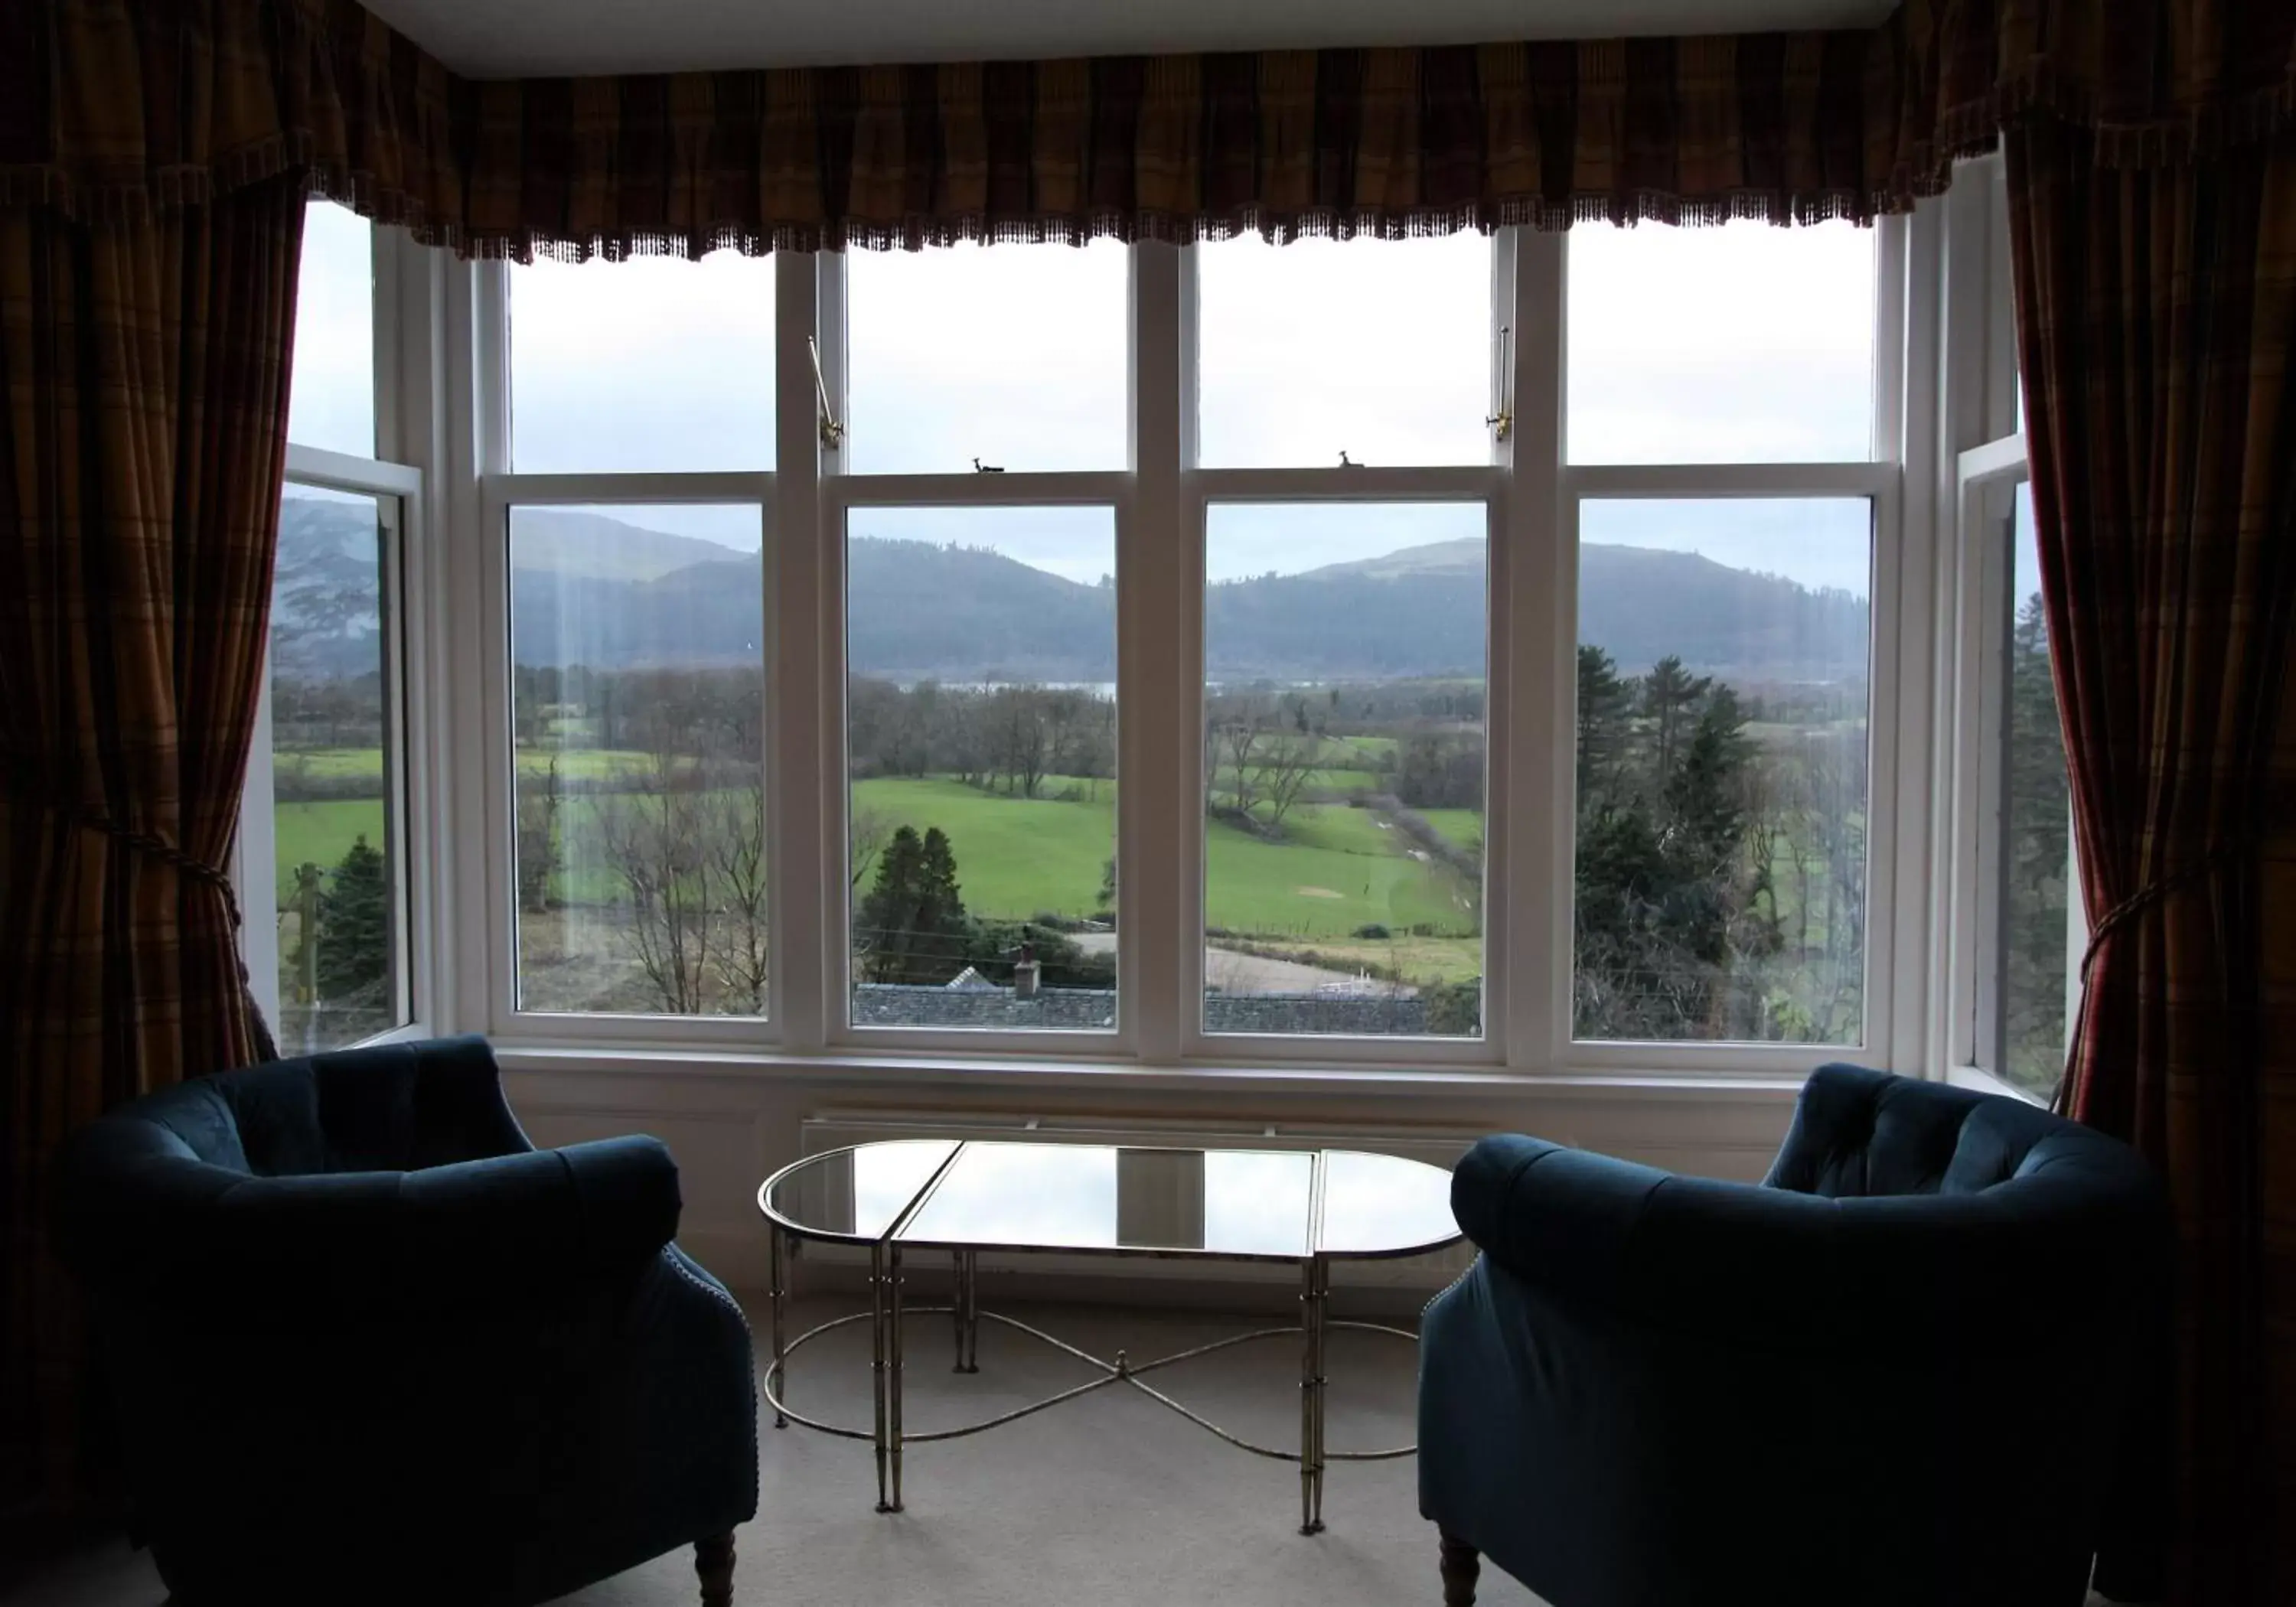
MULTIPOLYGON (((1956 197, 1958 204, 1958 197, 1956 197)), ((599 1047, 721 1056, 739 1063, 1109 1063, 1134 1068, 1334 1068, 1502 1072, 1598 1081, 1786 1081, 1830 1058, 1938 1074, 1938 914, 1922 888, 1949 838, 1933 801, 1933 732, 1952 728, 1949 663, 1933 654, 1952 565, 1933 553, 1952 526, 1954 429, 1940 393, 1952 344, 1942 202, 1878 225, 1876 452, 1855 464, 1564 461, 1566 236, 1492 236, 1492 326, 1506 324, 1513 432, 1483 466, 1199 468, 1194 250, 1130 248, 1130 459, 1104 473, 845 475, 817 427, 820 342, 831 413, 845 411, 845 264, 778 253, 776 459, 755 473, 517 475, 507 461, 507 271, 411 243, 404 333, 418 388, 409 457, 432 468, 422 498, 450 533, 411 611, 429 629, 427 751, 439 852, 416 845, 436 884, 441 1024, 480 1026, 514 1047, 599 1047), (1942 418, 1942 425, 1940 425, 1942 418), (1942 494, 1926 487, 1940 484, 1942 494), (1864 496, 1874 503, 1871 820, 1862 1045, 1582 1042, 1570 1038, 1570 886, 1577 510, 1587 498, 1864 496), (767 751, 774 973, 769 1019, 615 1017, 514 1008, 507 654, 507 510, 519 503, 755 503, 765 528, 767 751), (1486 999, 1481 1040, 1240 1035, 1203 1031, 1203 817, 1196 774, 1203 719, 1203 539, 1212 503, 1481 500, 1490 510, 1490 677, 1486 801, 1486 999), (845 599, 843 535, 854 507, 1109 505, 1118 533, 1118 1026, 1114 1033, 854 1028, 847 1019, 845 599), (452 686, 478 696, 455 698, 452 686), (473 783, 475 771, 475 783, 473 783), (1185 865, 1182 875, 1169 875, 1185 865), (836 875, 833 875, 836 872, 836 875)), ((395 232, 390 232, 395 234, 395 232)), ((1497 349, 1497 342, 1495 342, 1497 349)), ((1495 363, 1497 370, 1497 363, 1495 363)), ((1956 512, 1956 510, 1954 510, 1956 512)), ((409 659, 416 654, 411 652, 409 659)), ((1942 744, 1940 744, 1942 746, 1942 744)), ((418 895, 420 895, 418 886, 418 895)), ((1942 900, 1940 900, 1942 905, 1942 900)), ((420 925, 420 923, 418 923, 420 925)), ((427 927, 425 927, 427 930, 427 927)))

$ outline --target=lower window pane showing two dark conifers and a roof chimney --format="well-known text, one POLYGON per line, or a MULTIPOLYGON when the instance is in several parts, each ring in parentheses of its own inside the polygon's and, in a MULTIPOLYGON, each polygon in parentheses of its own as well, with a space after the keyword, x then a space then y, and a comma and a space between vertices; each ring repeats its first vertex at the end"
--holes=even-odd
POLYGON ((856 507, 854 1026, 1116 1026, 1116 514, 856 507))

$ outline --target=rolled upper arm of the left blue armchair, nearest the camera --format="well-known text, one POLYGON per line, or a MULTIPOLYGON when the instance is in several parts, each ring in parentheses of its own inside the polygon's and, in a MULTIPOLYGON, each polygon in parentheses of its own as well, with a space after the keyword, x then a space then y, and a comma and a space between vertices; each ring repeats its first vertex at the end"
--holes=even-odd
POLYGON ((99 1279, 197 1302, 374 1311, 551 1297, 634 1274, 677 1233, 659 1139, 602 1139, 427 1171, 246 1178, 181 1155, 83 1191, 99 1279))

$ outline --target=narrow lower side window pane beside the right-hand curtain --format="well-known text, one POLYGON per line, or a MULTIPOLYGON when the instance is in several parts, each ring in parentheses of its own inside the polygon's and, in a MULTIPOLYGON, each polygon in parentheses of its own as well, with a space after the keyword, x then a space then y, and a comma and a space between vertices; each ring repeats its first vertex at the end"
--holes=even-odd
POLYGON ((2011 526, 2007 709, 2002 719, 2002 1045, 2000 1074, 2053 1093, 2064 1072, 2071 948, 2073 826, 2064 725, 2048 673, 2041 553, 2032 487, 2018 484, 2011 526))

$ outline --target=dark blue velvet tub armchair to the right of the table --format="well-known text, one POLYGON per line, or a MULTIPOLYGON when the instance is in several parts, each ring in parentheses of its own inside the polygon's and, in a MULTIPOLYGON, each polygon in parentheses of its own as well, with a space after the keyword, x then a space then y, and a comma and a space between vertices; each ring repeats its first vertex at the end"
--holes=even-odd
POLYGON ((2167 1210, 2126 1146, 1848 1065, 1763 1187, 1483 1139, 1428 1306, 1444 1602, 2078 1607, 2158 1357, 2167 1210))

